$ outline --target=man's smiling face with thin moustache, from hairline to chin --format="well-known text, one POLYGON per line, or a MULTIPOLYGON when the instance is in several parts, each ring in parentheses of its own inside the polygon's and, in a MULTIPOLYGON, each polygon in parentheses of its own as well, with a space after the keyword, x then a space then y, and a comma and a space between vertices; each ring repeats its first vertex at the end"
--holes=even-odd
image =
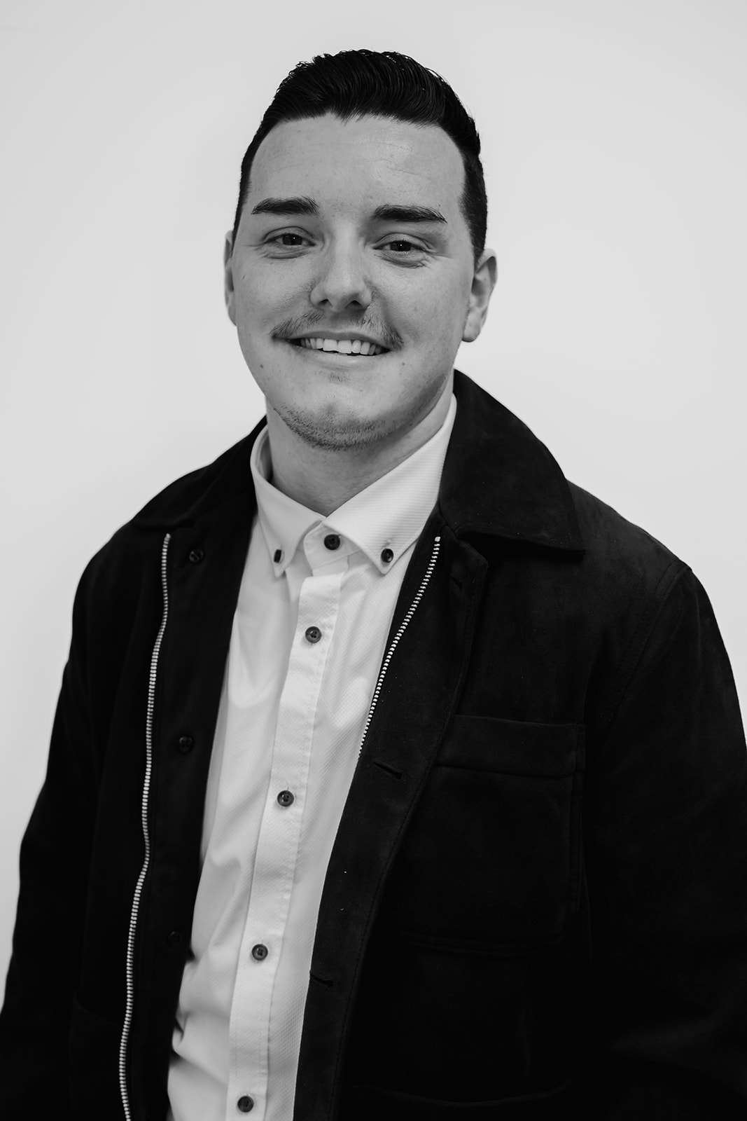
POLYGON ((265 137, 226 250, 226 304, 271 421, 351 448, 430 413, 495 280, 492 254, 475 267, 464 174, 436 126, 328 114, 265 137))

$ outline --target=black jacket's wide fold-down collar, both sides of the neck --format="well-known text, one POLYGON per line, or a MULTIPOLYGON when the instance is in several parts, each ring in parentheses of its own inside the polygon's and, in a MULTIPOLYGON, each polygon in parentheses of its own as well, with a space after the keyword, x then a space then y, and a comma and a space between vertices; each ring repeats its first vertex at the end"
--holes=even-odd
MULTIPOLYGON (((439 508, 459 537, 485 534, 583 552, 569 485, 557 462, 517 417, 458 370, 457 417, 443 464, 439 508)), ((193 526, 234 502, 255 508, 252 445, 264 419, 214 463, 157 494, 134 524, 162 530, 193 526)))

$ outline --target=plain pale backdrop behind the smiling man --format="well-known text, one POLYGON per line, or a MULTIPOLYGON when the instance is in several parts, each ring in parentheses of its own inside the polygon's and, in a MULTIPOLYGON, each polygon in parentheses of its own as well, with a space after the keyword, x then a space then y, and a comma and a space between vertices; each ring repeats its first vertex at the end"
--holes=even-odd
POLYGON ((4 0, 0 44, 0 972, 80 573, 262 415, 223 237, 314 54, 412 54, 475 115, 499 281, 458 364, 692 565, 744 705, 744 0, 4 0))

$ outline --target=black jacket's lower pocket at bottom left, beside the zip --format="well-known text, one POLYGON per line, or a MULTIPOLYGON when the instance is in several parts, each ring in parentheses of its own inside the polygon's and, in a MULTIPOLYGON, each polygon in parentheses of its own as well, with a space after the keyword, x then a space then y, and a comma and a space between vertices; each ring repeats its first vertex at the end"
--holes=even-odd
POLYGON ((97 1016, 73 998, 68 1037, 71 1115, 75 1121, 121 1118, 121 1023, 97 1016))

